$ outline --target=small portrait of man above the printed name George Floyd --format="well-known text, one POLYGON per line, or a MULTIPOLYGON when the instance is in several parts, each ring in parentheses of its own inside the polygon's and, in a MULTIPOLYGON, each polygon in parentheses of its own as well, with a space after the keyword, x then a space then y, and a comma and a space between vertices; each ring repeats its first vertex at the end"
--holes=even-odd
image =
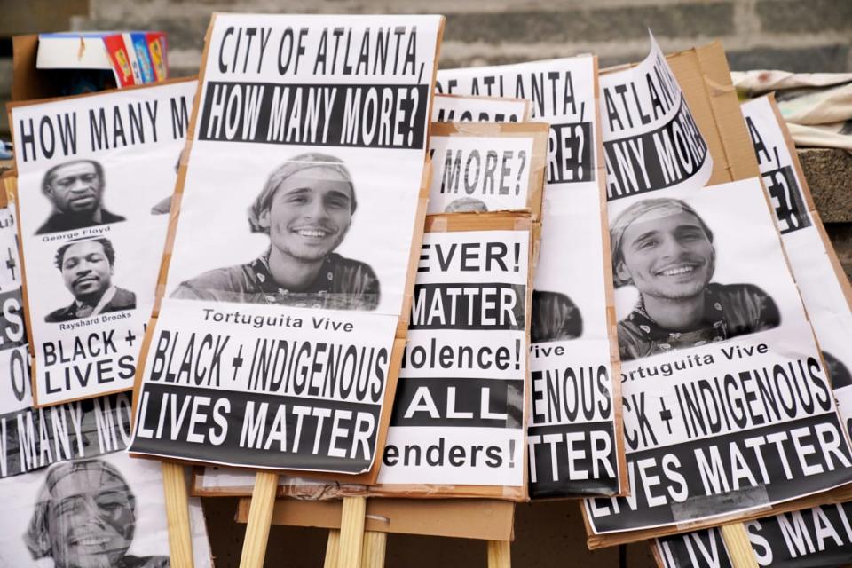
POLYGON ((104 168, 94 160, 75 160, 53 166, 44 174, 42 192, 53 211, 36 234, 60 233, 125 218, 103 207, 104 168))

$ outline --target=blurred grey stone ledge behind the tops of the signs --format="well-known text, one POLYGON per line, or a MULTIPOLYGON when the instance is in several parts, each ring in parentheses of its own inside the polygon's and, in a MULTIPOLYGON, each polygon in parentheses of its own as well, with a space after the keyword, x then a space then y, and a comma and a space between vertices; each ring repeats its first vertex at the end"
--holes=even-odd
POLYGON ((172 65, 197 67, 210 12, 432 12, 446 15, 441 66, 593 52, 602 66, 721 38, 734 69, 852 71, 849 0, 90 0, 75 28, 158 28, 172 65))

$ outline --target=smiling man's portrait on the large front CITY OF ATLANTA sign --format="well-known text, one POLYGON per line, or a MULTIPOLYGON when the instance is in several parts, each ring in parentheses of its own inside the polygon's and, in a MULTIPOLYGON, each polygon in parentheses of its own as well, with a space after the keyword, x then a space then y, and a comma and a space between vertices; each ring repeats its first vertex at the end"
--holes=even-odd
POLYGON ((246 264, 217 268, 182 282, 175 298, 375 310, 379 280, 366 263, 335 253, 358 209, 343 161, 297 155, 272 171, 248 208, 253 233, 270 246, 246 264))

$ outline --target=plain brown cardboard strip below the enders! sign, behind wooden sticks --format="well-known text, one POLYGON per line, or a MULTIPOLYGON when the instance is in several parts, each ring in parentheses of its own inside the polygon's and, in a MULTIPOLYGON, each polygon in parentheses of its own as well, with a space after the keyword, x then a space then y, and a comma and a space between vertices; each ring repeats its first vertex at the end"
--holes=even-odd
MULTIPOLYGON (((241 499, 236 520, 248 520, 251 501, 241 499)), ((272 511, 272 525, 340 528, 341 501, 279 500, 272 511)), ((367 501, 365 530, 383 533, 420 534, 476 540, 513 540, 515 505, 506 501, 416 501, 381 499, 367 501)))

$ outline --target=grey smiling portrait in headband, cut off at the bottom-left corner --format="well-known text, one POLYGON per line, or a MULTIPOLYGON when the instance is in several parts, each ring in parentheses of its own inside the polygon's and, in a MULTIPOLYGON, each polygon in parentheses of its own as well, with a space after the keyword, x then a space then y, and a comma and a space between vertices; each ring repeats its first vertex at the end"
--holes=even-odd
POLYGON ((56 568, 168 568, 168 556, 128 554, 135 532, 136 496, 121 472, 102 460, 65 461, 45 475, 24 543, 56 568))

